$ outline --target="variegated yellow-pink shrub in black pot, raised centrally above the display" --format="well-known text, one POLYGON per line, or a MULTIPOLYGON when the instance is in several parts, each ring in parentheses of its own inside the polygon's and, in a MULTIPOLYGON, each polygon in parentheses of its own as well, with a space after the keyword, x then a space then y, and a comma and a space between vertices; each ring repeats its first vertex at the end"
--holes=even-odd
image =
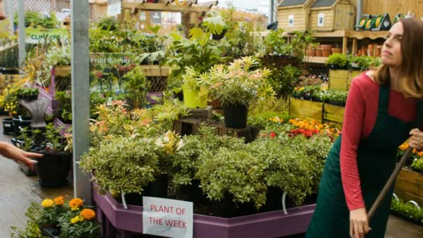
POLYGON ((266 88, 270 71, 251 70, 257 64, 252 57, 244 57, 228 66, 218 65, 210 72, 209 90, 212 98, 222 101, 226 127, 246 127, 248 105, 266 88))

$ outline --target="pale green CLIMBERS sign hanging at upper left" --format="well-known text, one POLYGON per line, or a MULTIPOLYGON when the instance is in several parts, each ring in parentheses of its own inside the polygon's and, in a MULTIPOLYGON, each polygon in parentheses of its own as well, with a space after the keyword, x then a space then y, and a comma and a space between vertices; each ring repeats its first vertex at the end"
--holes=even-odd
POLYGON ((26 28, 26 40, 27 44, 38 44, 45 42, 47 40, 58 40, 61 41, 67 40, 67 29, 35 29, 35 28, 26 28))

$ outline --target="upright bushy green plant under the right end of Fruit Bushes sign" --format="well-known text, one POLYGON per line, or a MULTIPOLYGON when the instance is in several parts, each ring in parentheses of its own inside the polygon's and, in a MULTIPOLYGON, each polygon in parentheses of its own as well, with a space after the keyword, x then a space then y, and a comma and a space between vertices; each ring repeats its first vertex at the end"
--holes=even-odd
POLYGON ((147 93, 150 88, 150 81, 145 78, 141 67, 135 67, 125 74, 124 88, 131 98, 134 108, 141 108, 147 104, 147 93))

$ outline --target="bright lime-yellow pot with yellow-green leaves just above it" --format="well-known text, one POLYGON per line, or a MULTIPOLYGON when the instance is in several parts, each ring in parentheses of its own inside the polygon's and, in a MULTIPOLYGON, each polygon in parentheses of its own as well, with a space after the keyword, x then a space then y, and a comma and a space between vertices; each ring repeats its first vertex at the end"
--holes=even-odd
POLYGON ((207 74, 200 74, 191 67, 186 67, 182 76, 182 89, 184 91, 184 104, 191 109, 203 109, 207 107, 207 88, 202 81, 207 80, 207 74))

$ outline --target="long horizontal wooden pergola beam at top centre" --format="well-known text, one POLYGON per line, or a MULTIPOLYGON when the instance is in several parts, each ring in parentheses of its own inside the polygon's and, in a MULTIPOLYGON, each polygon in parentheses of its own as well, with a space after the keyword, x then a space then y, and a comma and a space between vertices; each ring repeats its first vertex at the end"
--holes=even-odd
POLYGON ((122 8, 139 8, 141 10, 159 10, 164 12, 207 12, 210 8, 205 6, 177 6, 164 3, 122 3, 122 8))

